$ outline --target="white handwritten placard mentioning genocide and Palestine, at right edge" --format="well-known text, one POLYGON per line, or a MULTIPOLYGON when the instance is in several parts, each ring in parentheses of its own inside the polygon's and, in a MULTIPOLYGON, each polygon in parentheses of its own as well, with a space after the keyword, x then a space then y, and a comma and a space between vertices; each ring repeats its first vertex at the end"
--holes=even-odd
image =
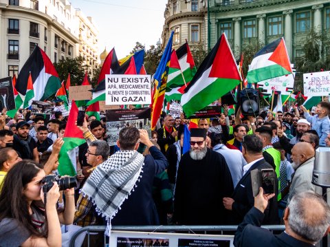
POLYGON ((305 96, 329 96, 330 72, 316 72, 304 74, 305 96))

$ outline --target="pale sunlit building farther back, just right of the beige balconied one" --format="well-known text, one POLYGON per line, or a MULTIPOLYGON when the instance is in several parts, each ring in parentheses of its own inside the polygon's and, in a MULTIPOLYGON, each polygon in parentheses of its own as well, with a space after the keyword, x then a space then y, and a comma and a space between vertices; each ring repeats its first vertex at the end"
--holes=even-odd
POLYGON ((91 17, 85 17, 80 9, 76 9, 79 30, 80 56, 85 58, 87 70, 93 76, 93 71, 98 67, 98 28, 91 17))

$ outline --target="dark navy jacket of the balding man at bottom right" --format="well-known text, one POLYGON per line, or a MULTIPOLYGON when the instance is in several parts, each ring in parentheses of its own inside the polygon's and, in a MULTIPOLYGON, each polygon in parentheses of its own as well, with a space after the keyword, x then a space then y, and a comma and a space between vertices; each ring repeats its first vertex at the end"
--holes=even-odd
POLYGON ((261 222, 265 215, 256 208, 251 208, 245 215, 244 220, 235 233, 234 246, 235 247, 312 247, 314 245, 307 244, 303 241, 295 239, 287 235, 287 233, 281 233, 274 235, 265 228, 260 228, 261 222))

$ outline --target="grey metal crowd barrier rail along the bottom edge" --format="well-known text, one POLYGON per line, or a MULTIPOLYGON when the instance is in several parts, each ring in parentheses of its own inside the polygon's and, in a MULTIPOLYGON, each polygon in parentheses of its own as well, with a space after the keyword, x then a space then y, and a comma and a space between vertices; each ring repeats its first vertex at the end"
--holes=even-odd
MULTIPOLYGON (((80 230, 76 231, 74 235, 72 235, 72 239, 70 241, 69 247, 74 247, 74 243, 76 238, 85 231, 87 232, 87 239, 88 239, 88 246, 89 246, 89 233, 97 233, 97 232, 104 232, 107 226, 85 226, 80 230)), ((283 231, 285 230, 284 225, 265 225, 261 226, 262 228, 266 228, 271 231, 283 231)), ((214 232, 217 231, 218 235, 223 235, 223 232, 231 231, 234 232, 237 230, 237 226, 112 226, 111 230, 124 230, 124 231, 141 231, 141 232, 189 232, 194 233, 196 232, 214 232)), ((199 233, 200 234, 200 233, 199 233)), ((228 233, 225 233, 228 234, 228 233)))

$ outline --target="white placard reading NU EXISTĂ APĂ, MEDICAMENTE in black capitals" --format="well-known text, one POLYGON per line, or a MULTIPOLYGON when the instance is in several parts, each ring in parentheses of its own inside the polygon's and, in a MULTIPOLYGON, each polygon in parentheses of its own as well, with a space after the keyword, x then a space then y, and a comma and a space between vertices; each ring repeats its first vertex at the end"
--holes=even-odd
POLYGON ((105 105, 151 104, 151 76, 142 74, 105 75, 105 105))

